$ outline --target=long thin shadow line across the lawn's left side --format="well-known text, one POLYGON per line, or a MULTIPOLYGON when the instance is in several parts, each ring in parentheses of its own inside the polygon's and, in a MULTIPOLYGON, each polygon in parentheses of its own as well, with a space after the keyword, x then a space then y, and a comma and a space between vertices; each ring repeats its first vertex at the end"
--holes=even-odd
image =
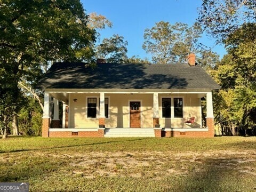
POLYGON ((68 145, 68 146, 59 146, 59 147, 46 147, 46 148, 35 148, 35 149, 15 149, 10 151, 0 151, 1 153, 15 153, 15 152, 21 152, 21 151, 37 151, 37 150, 49 150, 49 149, 61 149, 61 148, 70 148, 70 147, 81 147, 81 146, 93 146, 93 145, 103 145, 107 143, 118 143, 118 142, 130 142, 130 141, 139 141, 139 140, 147 140, 148 138, 138 138, 138 139, 131 139, 131 140, 117 140, 117 141, 106 141, 106 142, 93 142, 93 143, 85 143, 85 144, 79 144, 79 145, 68 145))

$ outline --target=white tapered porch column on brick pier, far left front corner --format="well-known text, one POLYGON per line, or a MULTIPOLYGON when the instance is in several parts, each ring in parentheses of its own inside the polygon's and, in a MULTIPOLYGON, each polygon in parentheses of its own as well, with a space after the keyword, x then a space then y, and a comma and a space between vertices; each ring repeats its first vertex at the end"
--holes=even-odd
POLYGON ((49 92, 44 92, 44 111, 43 111, 43 123, 42 123, 42 137, 49 137, 50 126, 50 97, 49 92))

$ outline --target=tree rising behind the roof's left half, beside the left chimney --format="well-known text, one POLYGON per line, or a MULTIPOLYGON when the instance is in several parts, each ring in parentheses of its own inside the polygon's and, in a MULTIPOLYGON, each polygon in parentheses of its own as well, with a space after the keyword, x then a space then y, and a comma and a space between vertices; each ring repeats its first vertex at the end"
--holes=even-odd
POLYGON ((113 37, 104 38, 96 47, 96 55, 110 63, 122 63, 127 59, 127 45, 124 37, 113 35, 113 37))

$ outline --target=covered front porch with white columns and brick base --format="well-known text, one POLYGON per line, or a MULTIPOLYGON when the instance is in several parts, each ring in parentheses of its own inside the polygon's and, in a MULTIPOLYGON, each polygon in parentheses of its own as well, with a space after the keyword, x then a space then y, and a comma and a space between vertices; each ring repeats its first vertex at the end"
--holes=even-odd
POLYGON ((211 90, 49 89, 45 90, 42 135, 213 137, 212 93, 211 90), (203 97, 207 104, 206 126, 202 117, 203 97), (195 117, 195 121, 185 123, 184 119, 189 117, 195 117))

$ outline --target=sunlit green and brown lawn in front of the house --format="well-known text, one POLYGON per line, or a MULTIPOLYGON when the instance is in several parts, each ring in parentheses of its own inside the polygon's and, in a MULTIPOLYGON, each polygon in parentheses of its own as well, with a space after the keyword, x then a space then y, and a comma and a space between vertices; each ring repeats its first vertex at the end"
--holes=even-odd
POLYGON ((30 191, 256 191, 256 137, 0 139, 0 182, 30 191))

